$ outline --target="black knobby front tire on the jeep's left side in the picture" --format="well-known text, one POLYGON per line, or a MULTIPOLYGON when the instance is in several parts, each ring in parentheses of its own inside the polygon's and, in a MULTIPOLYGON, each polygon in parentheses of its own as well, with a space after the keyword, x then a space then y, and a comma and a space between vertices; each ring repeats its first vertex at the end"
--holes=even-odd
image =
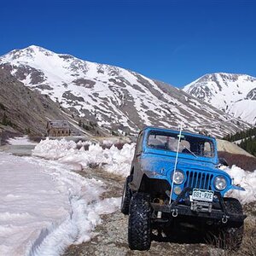
POLYGON ((150 198, 144 193, 131 197, 128 224, 128 243, 131 250, 148 250, 151 245, 150 198))

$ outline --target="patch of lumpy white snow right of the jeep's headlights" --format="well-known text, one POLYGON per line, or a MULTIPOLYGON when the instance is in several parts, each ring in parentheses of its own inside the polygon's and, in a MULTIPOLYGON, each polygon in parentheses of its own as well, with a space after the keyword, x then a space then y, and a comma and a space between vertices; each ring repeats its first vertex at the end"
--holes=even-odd
POLYGON ((254 172, 246 172, 240 167, 232 166, 231 168, 225 168, 224 171, 234 178, 235 185, 239 184, 246 189, 246 191, 232 190, 229 192, 229 196, 239 199, 242 204, 256 201, 256 170, 254 172))

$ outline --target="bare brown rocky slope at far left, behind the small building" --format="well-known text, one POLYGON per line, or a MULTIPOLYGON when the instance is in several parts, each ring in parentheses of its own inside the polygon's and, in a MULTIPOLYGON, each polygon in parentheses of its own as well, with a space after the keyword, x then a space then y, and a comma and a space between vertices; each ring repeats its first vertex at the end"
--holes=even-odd
POLYGON ((0 91, 0 133, 9 130, 44 135, 49 119, 67 119, 76 124, 67 109, 60 108, 48 95, 24 86, 2 68, 0 91))

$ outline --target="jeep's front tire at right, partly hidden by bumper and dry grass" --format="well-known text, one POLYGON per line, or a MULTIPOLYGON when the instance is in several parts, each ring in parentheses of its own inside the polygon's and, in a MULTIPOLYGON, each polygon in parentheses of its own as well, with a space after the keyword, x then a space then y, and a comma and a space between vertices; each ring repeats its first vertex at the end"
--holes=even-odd
MULTIPOLYGON (((224 198, 225 207, 230 214, 242 215, 240 201, 235 198, 224 198)), ((237 251, 241 247, 243 221, 236 227, 224 227, 220 232, 220 247, 225 250, 237 251)))

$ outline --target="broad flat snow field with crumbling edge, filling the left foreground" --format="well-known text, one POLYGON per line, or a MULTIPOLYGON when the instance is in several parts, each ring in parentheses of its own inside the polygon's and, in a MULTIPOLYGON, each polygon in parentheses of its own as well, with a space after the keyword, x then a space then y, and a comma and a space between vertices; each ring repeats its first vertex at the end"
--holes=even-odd
POLYGON ((55 161, 0 153, 0 175, 0 255, 60 255, 119 207, 100 199, 102 182, 55 161))

